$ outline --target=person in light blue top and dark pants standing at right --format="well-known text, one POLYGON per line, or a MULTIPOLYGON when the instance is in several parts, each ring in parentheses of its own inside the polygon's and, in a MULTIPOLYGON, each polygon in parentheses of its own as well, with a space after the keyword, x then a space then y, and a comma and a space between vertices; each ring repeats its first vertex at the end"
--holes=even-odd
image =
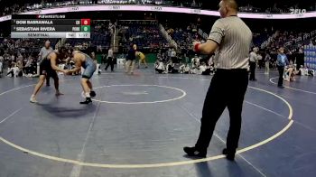
POLYGON ((276 66, 277 70, 279 70, 279 81, 277 84, 277 87, 283 89, 283 73, 284 73, 284 67, 289 63, 287 60, 287 57, 284 53, 284 48, 281 47, 279 49, 279 54, 277 55, 277 60, 276 60, 276 66))

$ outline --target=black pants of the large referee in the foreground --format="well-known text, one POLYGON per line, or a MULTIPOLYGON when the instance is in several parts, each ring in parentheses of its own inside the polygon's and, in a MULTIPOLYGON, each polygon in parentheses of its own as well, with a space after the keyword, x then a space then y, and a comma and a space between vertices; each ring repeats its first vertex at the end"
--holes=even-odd
POLYGON ((241 112, 248 85, 247 70, 217 70, 210 82, 209 90, 204 100, 202 111, 200 136, 195 147, 206 151, 218 118, 228 107, 230 126, 227 138, 228 151, 237 149, 240 128, 241 112))

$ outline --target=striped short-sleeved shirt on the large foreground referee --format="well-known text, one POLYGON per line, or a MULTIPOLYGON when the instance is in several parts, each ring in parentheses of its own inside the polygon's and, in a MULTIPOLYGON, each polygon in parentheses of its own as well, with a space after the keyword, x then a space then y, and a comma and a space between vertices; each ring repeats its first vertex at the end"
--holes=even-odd
POLYGON ((218 19, 209 33, 209 40, 218 43, 214 56, 217 69, 247 69, 252 32, 237 16, 218 19))

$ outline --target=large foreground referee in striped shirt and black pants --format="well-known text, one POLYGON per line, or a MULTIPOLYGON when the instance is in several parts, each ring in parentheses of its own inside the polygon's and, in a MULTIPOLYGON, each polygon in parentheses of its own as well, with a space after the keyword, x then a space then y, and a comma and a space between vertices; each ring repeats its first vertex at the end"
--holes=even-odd
POLYGON ((248 85, 248 51, 252 32, 239 17, 235 0, 219 3, 218 19, 209 33, 206 43, 193 42, 194 51, 204 54, 215 52, 216 67, 209 90, 204 100, 200 136, 194 147, 184 147, 189 156, 206 157, 210 139, 218 118, 228 107, 230 126, 227 148, 223 150, 228 160, 233 161, 238 146, 241 128, 241 112, 248 85))

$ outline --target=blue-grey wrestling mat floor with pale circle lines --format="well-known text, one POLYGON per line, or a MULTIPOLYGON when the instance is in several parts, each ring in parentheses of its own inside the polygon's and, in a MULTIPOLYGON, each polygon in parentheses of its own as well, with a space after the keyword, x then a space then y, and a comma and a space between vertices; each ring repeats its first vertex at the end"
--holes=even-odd
POLYGON ((199 135, 210 79, 153 69, 106 72, 92 79, 97 97, 86 106, 79 105, 78 76, 60 76, 59 98, 51 80, 39 104, 29 102, 37 78, 1 78, 0 176, 315 176, 316 79, 297 77, 278 89, 276 71, 257 70, 257 81, 249 82, 235 162, 221 155, 227 110, 208 158, 184 155, 182 147, 199 135))

